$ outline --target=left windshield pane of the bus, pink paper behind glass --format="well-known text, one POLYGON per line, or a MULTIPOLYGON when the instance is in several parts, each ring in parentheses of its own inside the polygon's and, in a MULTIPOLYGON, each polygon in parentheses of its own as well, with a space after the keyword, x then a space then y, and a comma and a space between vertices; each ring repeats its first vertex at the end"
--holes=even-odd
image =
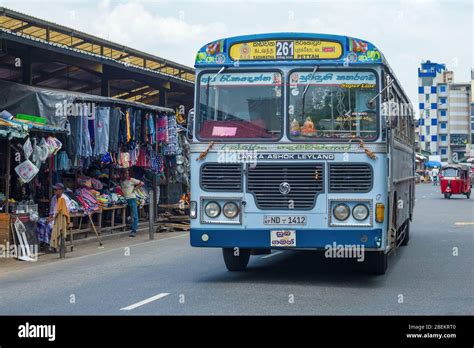
POLYGON ((201 139, 280 138, 279 72, 205 73, 199 79, 196 131, 201 139))

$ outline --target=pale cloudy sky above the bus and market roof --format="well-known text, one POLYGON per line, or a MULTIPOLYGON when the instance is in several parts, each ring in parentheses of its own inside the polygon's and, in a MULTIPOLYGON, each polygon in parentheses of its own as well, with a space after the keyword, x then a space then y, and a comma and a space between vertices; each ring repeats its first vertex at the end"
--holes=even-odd
POLYGON ((228 36, 353 36, 382 51, 415 105, 421 61, 446 64, 456 82, 469 82, 474 67, 473 0, 0 0, 0 6, 188 66, 201 46, 228 36))

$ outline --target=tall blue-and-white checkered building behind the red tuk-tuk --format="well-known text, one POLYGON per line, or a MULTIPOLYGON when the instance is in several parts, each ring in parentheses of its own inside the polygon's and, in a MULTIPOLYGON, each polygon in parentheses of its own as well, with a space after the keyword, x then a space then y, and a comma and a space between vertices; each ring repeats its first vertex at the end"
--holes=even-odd
POLYGON ((470 157, 471 86, 455 83, 444 64, 426 61, 418 69, 420 149, 442 162, 470 157))

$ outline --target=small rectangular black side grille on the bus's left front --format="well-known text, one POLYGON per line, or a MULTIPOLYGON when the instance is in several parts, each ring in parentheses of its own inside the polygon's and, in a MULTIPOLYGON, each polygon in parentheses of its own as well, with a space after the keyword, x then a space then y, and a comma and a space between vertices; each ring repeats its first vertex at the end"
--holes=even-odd
POLYGON ((242 164, 206 163, 200 182, 204 191, 242 192, 242 164))

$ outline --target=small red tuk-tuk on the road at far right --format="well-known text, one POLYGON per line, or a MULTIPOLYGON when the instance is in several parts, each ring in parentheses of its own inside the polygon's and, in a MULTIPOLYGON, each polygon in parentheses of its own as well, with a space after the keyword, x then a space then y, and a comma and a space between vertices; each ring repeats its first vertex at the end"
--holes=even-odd
POLYGON ((441 193, 444 198, 451 195, 466 195, 471 197, 470 168, 466 165, 451 164, 441 168, 440 183, 441 193))

